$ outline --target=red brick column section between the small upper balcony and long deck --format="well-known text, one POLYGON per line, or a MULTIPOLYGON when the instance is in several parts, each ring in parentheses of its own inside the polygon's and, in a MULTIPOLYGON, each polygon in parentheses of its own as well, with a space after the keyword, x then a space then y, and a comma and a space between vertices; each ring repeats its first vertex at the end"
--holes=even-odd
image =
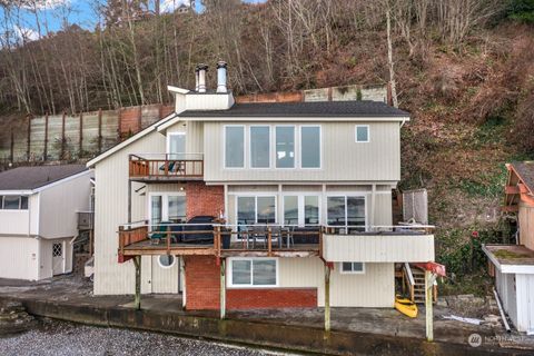
POLYGON ((225 188, 191 181, 187 184, 186 200, 187 219, 200 215, 218 217, 220 211, 225 210, 225 188))

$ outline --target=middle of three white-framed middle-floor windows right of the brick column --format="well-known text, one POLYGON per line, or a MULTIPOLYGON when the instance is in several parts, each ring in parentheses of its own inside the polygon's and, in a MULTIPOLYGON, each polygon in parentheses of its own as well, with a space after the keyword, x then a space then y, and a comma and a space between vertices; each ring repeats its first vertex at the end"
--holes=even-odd
POLYGON ((284 224, 294 226, 319 225, 319 197, 312 195, 285 196, 284 224))

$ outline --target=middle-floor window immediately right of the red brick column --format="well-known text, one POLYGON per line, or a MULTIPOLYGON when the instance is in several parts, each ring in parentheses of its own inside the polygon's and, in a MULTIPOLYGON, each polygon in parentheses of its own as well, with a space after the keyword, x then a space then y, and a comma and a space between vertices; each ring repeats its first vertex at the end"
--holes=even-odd
POLYGON ((237 197, 237 224, 275 224, 276 197, 237 197))

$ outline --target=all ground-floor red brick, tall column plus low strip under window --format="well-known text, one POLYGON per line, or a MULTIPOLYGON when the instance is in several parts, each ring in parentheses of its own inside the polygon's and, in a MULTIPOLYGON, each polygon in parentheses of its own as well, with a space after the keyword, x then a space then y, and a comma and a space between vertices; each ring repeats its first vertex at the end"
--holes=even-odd
MULTIPOLYGON (((220 267, 214 256, 184 256, 186 309, 217 310, 220 305, 220 267)), ((317 288, 239 288, 226 290, 226 308, 313 308, 317 288)))

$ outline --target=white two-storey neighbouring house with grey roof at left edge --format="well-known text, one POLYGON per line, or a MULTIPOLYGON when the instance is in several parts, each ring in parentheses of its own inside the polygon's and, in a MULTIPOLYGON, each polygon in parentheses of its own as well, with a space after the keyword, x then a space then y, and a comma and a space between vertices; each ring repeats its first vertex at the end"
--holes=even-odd
POLYGON ((0 172, 0 278, 39 280, 72 270, 77 211, 89 210, 83 165, 0 172))

